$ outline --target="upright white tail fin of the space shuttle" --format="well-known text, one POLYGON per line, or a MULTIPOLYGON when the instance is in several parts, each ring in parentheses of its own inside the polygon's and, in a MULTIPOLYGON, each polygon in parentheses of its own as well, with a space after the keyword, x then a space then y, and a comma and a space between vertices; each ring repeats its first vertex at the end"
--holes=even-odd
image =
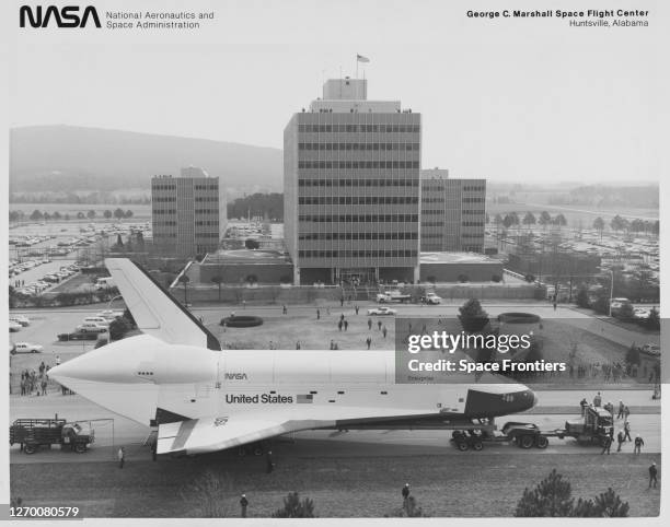
POLYGON ((127 258, 107 258, 105 266, 145 333, 171 344, 221 350, 219 340, 140 266, 127 258))

